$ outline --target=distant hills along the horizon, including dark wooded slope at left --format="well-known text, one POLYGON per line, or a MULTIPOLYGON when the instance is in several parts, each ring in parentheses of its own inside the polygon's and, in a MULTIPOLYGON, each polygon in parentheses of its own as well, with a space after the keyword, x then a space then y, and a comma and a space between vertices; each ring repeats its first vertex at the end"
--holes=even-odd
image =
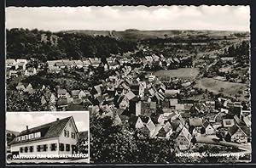
POLYGON ((133 52, 146 39, 166 41, 229 39, 249 36, 243 31, 38 31, 7 30, 7 59, 106 58, 110 54, 133 52), (174 38, 173 38, 174 37, 174 38))

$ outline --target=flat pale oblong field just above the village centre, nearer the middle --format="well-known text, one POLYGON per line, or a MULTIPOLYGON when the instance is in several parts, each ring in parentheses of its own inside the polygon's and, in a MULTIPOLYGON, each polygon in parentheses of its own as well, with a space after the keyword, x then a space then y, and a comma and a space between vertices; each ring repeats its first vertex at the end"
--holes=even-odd
POLYGON ((197 68, 179 68, 177 70, 158 70, 153 72, 154 76, 170 76, 179 78, 195 78, 199 73, 197 68))

